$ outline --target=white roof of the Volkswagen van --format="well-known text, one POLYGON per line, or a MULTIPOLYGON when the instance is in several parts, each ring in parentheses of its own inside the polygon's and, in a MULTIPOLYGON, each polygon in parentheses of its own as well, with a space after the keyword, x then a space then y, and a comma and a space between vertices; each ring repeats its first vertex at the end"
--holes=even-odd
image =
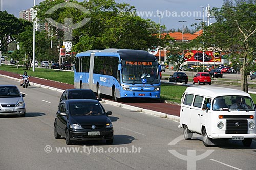
POLYGON ((187 87, 185 93, 203 94, 204 96, 207 96, 210 98, 215 98, 217 96, 225 96, 225 95, 241 95, 241 96, 250 97, 250 94, 241 90, 224 88, 224 87, 212 87, 212 86, 187 87))

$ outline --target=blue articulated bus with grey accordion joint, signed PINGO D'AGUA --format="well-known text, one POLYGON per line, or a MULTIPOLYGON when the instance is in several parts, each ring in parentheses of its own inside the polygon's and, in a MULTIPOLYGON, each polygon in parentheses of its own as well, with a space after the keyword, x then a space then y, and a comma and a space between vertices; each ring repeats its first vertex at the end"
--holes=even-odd
POLYGON ((89 50, 76 55, 74 87, 120 98, 160 98, 160 68, 143 50, 89 50))

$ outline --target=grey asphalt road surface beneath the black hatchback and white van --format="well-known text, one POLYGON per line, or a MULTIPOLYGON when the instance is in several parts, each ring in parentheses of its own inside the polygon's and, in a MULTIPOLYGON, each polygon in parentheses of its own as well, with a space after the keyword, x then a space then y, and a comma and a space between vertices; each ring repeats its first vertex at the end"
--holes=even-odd
MULTIPOLYGON (((0 77, 0 84, 19 81, 0 77)), ((26 94, 26 117, 0 116, 0 169, 255 169, 256 143, 183 139, 178 122, 102 103, 114 125, 114 143, 54 138, 60 92, 37 86, 26 94)))

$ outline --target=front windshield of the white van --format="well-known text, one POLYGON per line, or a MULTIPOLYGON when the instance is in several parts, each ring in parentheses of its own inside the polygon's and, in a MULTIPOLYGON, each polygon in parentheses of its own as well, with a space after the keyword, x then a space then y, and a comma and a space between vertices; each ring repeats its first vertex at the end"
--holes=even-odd
POLYGON ((254 103, 247 96, 221 96, 212 102, 212 110, 219 111, 254 111, 254 103))

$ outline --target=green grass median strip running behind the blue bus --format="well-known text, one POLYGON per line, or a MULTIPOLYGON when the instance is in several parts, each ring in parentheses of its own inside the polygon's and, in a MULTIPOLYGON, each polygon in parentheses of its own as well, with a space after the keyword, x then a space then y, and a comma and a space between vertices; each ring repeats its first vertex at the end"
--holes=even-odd
MULTIPOLYGON (((74 84, 74 72, 63 71, 63 70, 53 70, 47 68, 36 68, 35 71, 24 70, 25 67, 17 65, 4 65, 1 64, 0 70, 13 72, 22 75, 24 71, 32 77, 38 77, 43 79, 54 80, 58 82, 63 82, 67 84, 74 84)), ((186 86, 179 86, 173 84, 161 84, 161 99, 169 102, 180 103, 181 96, 186 90, 186 86)), ((256 102, 256 94, 250 94, 254 103, 256 102)))

